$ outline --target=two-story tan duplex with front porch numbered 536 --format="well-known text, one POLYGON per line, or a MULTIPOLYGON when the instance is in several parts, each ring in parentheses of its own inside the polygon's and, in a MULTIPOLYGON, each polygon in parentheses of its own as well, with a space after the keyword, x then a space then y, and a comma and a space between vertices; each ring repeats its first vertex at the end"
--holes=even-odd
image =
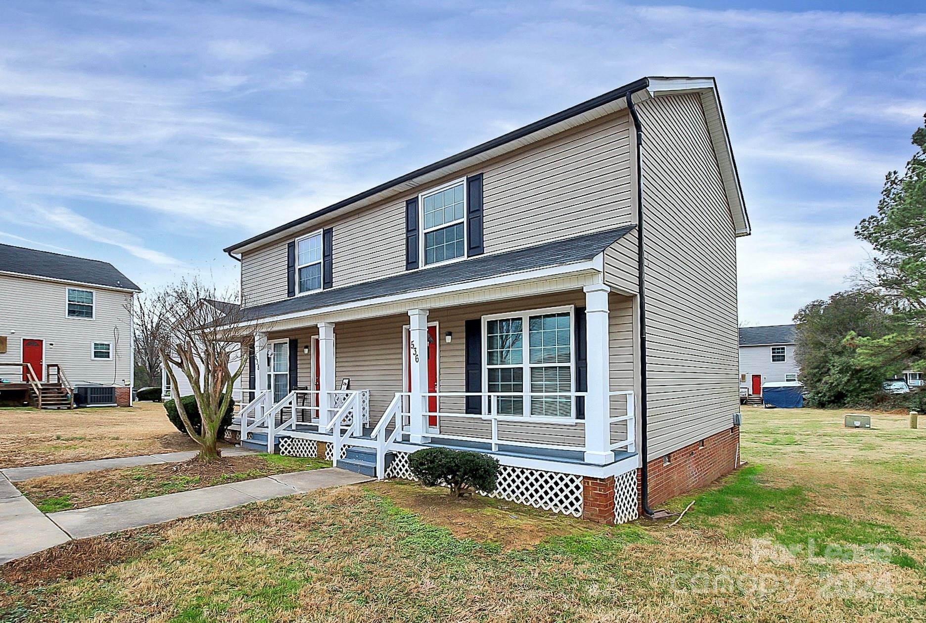
POLYGON ((499 497, 636 517, 737 466, 749 232, 715 81, 648 78, 232 244, 245 443, 478 450, 499 497))

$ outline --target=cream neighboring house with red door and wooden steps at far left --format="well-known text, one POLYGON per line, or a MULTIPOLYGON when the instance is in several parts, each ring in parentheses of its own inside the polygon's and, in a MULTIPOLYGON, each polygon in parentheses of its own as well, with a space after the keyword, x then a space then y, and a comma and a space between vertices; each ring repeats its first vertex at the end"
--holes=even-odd
POLYGON ((107 262, 0 244, 0 400, 130 406, 138 292, 107 262))

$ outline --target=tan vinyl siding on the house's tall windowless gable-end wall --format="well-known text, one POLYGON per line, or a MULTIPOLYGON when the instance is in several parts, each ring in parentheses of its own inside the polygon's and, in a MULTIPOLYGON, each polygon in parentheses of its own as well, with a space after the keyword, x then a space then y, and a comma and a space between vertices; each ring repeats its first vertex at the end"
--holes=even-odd
POLYGON ((732 426, 739 410, 736 247, 696 95, 639 106, 649 459, 732 426))

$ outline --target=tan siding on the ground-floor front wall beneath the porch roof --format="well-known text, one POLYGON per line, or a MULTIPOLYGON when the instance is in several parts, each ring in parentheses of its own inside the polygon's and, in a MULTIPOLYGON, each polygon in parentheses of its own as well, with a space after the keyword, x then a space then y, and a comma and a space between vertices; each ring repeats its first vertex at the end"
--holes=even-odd
MULTIPOLYGON (((438 388, 442 392, 465 392, 464 356, 466 350, 465 323, 469 319, 482 318, 485 315, 506 312, 519 312, 531 309, 543 309, 564 305, 584 305, 584 293, 572 291, 546 294, 509 301, 479 305, 461 305, 433 309, 428 317, 429 323, 438 323, 438 388), (450 343, 444 335, 453 333, 450 343)), ((633 327, 632 299, 616 294, 611 295, 610 315, 610 355, 611 355, 611 389, 632 389, 633 385, 633 327)), ((403 391, 405 382, 403 367, 403 328, 408 325, 407 315, 394 315, 384 318, 370 318, 335 324, 335 383, 340 387, 344 378, 351 380, 351 388, 370 391, 370 420, 379 421, 382 413, 393 400, 395 392, 403 391)), ((299 384, 311 384, 310 355, 303 354, 303 346, 315 329, 272 333, 269 339, 289 337, 299 341, 299 384)), ((484 344, 483 344, 484 347, 484 344)), ((484 356, 484 355, 483 355, 484 356)), ((244 379, 243 387, 247 387, 244 379)), ((623 408, 622 401, 615 402, 615 408, 623 408), (620 404, 619 404, 620 403, 620 404)), ((441 409, 446 411, 463 411, 461 399, 445 398, 441 409)), ((473 418, 443 417, 442 431, 446 434, 488 435, 489 422, 473 418)), ((584 441, 582 422, 571 425, 563 424, 521 424, 502 423, 499 436, 502 439, 533 442, 551 442, 557 444, 579 445, 584 441)))

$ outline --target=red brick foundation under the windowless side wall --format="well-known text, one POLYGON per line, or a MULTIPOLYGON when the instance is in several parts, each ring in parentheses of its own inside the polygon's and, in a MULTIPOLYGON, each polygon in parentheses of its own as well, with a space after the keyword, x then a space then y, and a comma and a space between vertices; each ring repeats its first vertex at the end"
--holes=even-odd
MULTIPOLYGON (((673 450, 668 464, 664 456, 651 460, 647 465, 650 508, 732 472, 739 467, 739 445, 740 427, 734 426, 673 450)), ((637 479, 639 487, 639 473, 637 479)))

